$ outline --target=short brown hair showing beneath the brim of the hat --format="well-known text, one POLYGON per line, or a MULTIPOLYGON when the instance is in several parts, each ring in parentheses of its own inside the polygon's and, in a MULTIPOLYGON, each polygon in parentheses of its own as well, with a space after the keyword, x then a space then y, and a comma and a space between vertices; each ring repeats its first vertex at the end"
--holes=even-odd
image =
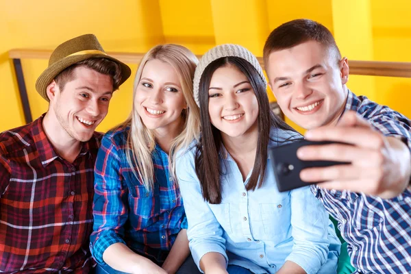
POLYGON ((75 68, 79 66, 85 66, 86 68, 97 71, 98 73, 109 75, 112 78, 113 91, 119 89, 121 82, 121 66, 106 58, 89 58, 69 66, 54 78, 54 81, 58 84, 58 88, 60 88, 60 90, 64 89, 67 82, 73 80, 73 72, 75 68))

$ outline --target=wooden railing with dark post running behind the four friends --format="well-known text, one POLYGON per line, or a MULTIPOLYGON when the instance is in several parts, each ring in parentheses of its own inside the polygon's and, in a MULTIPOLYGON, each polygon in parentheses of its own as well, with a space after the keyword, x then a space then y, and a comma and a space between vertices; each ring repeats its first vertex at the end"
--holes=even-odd
MULTIPOLYGON (((48 60, 51 55, 51 50, 42 49, 12 49, 9 51, 9 57, 14 62, 14 70, 20 91, 21 103, 25 114, 26 123, 32 121, 29 101, 27 98, 27 90, 23 77, 23 69, 21 67, 21 59, 45 59, 48 60)), ((126 64, 138 64, 145 53, 120 53, 108 52, 114 58, 125 62, 126 64)), ((201 58, 201 55, 197 55, 201 58)), ((258 58, 262 68, 264 63, 262 58, 258 58)), ((349 60, 349 73, 351 75, 373 75, 387 77, 410 77, 411 78, 411 62, 380 62, 380 61, 357 61, 349 60)))

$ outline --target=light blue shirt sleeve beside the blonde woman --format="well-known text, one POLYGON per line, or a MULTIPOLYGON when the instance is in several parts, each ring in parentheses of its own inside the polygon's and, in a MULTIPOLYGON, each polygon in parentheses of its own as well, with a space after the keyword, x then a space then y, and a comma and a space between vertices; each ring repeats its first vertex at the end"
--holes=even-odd
MULTIPOLYGON (((200 260, 206 253, 221 253, 226 262, 228 258, 225 253, 223 229, 201 195, 201 186, 195 173, 194 150, 179 153, 176 160, 176 175, 188 220, 190 250, 199 267, 200 260)), ((201 271, 200 267, 199 270, 201 271)))

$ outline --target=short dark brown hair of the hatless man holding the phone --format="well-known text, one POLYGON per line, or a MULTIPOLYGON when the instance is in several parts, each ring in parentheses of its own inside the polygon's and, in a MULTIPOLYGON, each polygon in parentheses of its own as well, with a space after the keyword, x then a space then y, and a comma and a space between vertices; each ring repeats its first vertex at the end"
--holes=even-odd
POLYGON ((334 50, 338 61, 341 59, 340 49, 327 27, 310 19, 296 19, 280 25, 267 38, 263 50, 265 66, 271 52, 290 49, 308 41, 319 42, 325 49, 334 50))

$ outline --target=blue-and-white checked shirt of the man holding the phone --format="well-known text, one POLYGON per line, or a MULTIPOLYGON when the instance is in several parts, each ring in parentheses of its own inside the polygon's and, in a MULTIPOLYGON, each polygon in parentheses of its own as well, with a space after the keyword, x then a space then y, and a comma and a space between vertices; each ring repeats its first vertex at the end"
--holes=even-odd
MULTIPOLYGON (((348 91, 345 110, 355 110, 385 136, 411 149, 411 121, 399 112, 348 91)), ((312 191, 337 221, 357 273, 411 273, 411 190, 393 199, 349 191, 312 191)))

